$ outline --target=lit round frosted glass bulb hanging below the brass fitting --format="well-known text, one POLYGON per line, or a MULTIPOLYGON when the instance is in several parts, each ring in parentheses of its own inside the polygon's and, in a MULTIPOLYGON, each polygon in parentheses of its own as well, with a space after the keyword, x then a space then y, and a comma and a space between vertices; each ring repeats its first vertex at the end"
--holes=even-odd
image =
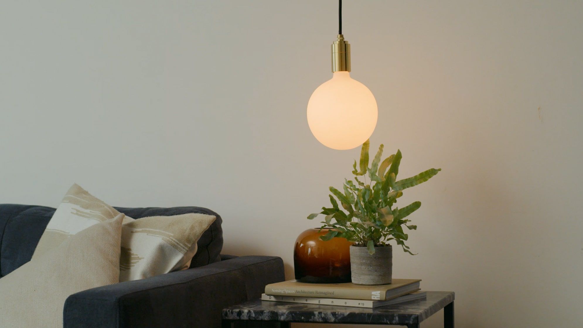
POLYGON ((308 101, 308 125, 319 142, 332 149, 360 146, 377 125, 377 101, 346 71, 334 72, 308 101))

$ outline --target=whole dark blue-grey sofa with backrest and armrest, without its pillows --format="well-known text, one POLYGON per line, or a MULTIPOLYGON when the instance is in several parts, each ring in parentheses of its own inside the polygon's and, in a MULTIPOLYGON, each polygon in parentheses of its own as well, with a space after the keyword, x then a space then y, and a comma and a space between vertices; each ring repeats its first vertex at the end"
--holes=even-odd
MULTIPOLYGON (((220 255, 222 219, 202 207, 116 207, 133 218, 205 213, 217 217, 198 241, 191 268, 93 288, 66 299, 64 327, 220 327, 221 309, 259 298, 284 280, 282 259, 220 255)), ((28 262, 55 209, 0 204, 0 279, 28 262)))

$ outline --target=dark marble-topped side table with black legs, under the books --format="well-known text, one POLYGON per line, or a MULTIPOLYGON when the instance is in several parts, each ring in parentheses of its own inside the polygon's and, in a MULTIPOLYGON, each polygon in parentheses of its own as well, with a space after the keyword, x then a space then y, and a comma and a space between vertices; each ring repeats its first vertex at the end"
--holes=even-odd
POLYGON ((454 299, 455 294, 452 291, 428 291, 426 299, 374 309, 256 299, 223 309, 223 328, 289 328, 291 322, 401 325, 419 328, 423 320, 441 309, 444 309, 444 327, 454 328, 454 299))

